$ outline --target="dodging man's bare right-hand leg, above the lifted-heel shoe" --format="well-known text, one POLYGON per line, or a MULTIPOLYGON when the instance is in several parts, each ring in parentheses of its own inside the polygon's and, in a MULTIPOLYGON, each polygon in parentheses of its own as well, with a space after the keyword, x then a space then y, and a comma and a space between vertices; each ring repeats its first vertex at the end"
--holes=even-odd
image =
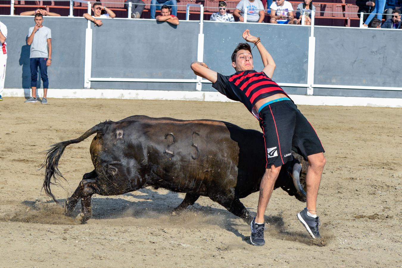
POLYGON ((309 155, 307 159, 309 164, 306 174, 307 209, 310 213, 316 214, 318 188, 326 159, 324 153, 309 155))

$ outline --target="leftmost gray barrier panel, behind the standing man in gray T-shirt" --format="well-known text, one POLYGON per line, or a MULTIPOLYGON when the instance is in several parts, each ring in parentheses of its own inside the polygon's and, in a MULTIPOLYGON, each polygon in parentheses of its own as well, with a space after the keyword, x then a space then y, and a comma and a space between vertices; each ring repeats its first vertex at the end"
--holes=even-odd
MULTIPOLYGON (((7 26, 7 68, 5 88, 31 87, 27 36, 35 26, 33 16, 0 16, 7 26)), ((49 88, 83 88, 85 55, 85 18, 45 17, 43 25, 51 29, 52 64, 47 69, 49 88)), ((40 81, 40 76, 39 76, 40 81)), ((38 88, 41 88, 41 81, 38 88)))

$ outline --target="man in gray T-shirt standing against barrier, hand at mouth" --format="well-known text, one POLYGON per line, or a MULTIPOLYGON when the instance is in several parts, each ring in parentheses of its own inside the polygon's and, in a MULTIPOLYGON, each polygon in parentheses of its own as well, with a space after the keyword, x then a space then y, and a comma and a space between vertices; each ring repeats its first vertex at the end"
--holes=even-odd
POLYGON ((27 44, 31 45, 31 88, 32 97, 25 102, 37 102, 36 84, 38 80, 38 66, 41 69, 41 78, 43 82, 42 104, 47 104, 47 88, 49 88, 49 79, 47 78, 47 66, 51 64, 51 31, 42 25, 43 15, 35 14, 35 26, 29 28, 27 44))

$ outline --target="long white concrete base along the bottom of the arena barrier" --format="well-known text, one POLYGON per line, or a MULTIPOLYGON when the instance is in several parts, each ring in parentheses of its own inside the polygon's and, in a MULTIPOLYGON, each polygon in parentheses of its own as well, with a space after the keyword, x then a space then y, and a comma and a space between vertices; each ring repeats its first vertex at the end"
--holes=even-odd
MULTIPOLYGON (((4 97, 29 97, 29 89, 4 89, 4 97)), ((43 90, 39 89, 39 96, 43 90)), ((219 92, 120 89, 49 89, 48 98, 119 98, 132 100, 196 100, 232 102, 219 92)), ((401 98, 289 95, 296 104, 402 108, 401 98)))

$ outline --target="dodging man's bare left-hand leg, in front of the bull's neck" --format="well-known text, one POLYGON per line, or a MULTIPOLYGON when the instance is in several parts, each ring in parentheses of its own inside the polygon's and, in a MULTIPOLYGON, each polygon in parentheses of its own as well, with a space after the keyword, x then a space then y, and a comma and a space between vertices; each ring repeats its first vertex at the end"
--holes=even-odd
POLYGON ((274 165, 272 165, 271 168, 267 168, 265 170, 265 174, 263 176, 263 179, 261 180, 260 185, 257 216, 255 217, 256 223, 264 223, 265 210, 267 209, 269 198, 271 198, 271 194, 275 186, 275 181, 279 176, 280 170, 281 166, 275 167, 274 165))

